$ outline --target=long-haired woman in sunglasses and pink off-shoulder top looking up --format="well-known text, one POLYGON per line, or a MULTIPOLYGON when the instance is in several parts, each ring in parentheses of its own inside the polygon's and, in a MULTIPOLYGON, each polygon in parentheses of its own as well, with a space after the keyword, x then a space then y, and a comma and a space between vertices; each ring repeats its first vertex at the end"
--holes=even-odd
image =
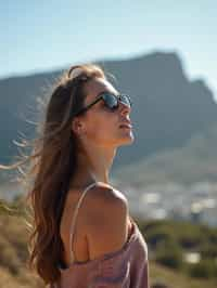
POLYGON ((92 64, 73 66, 51 94, 29 194, 30 264, 49 287, 149 287, 146 244, 108 179, 117 147, 133 142, 130 110, 92 64))

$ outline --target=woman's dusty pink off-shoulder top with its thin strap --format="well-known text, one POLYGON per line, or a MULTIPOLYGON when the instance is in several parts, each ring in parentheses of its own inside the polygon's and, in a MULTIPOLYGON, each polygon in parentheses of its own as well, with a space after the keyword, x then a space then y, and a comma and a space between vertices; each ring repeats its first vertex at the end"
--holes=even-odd
MULTIPOLYGON (((97 182, 88 185, 78 200, 71 226, 69 244, 73 241, 78 208, 86 193, 97 182)), ((131 217, 130 222, 132 228, 119 250, 87 262, 74 261, 72 251, 71 264, 64 266, 59 263, 61 277, 49 288, 150 288, 148 246, 131 217)))

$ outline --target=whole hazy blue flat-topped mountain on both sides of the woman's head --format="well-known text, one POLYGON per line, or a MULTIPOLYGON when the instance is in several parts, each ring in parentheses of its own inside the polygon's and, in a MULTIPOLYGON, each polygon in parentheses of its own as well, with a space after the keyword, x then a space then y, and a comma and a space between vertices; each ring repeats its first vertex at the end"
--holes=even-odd
MULTIPOLYGON (((110 80, 133 101, 131 120, 136 140, 118 150, 113 168, 181 147, 193 134, 217 122, 212 91, 202 79, 188 79, 177 53, 154 52, 97 64, 112 73, 116 80, 110 80)), ((18 141, 21 133, 27 138, 35 135, 35 127, 26 123, 24 117, 34 119, 37 96, 46 93, 60 73, 0 80, 0 162, 17 155, 12 141, 18 141)))

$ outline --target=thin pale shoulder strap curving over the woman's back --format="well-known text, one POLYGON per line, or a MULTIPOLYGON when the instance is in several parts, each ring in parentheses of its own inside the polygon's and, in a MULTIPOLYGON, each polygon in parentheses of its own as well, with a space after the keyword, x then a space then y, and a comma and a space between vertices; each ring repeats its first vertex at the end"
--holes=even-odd
POLYGON ((88 192, 90 188, 92 188, 93 186, 95 186, 97 184, 98 184, 98 182, 93 182, 93 183, 91 183, 90 185, 88 185, 88 186, 84 189, 84 192, 82 192, 82 194, 81 194, 81 196, 80 196, 80 198, 79 198, 79 200, 78 200, 78 204, 77 204, 77 206, 76 206, 76 208, 75 208, 75 212, 74 212, 74 215, 73 215, 73 220, 72 220, 72 224, 71 224, 71 230, 69 230, 69 257, 71 257, 71 263, 74 262, 74 252, 73 252, 73 249, 72 249, 72 245, 73 245, 73 236, 74 236, 75 222, 76 222, 76 218, 77 218, 78 209, 79 209, 79 207, 80 207, 80 205, 81 205, 81 201, 82 201, 85 195, 87 194, 87 192, 88 192))

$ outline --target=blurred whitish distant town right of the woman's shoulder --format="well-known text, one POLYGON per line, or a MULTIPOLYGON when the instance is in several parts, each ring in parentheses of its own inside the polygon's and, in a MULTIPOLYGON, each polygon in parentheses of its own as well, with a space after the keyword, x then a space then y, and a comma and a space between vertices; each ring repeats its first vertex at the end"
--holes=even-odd
POLYGON ((203 182, 186 187, 168 183, 143 188, 119 184, 118 188, 127 197, 130 212, 143 220, 189 220, 217 226, 217 184, 203 182))

